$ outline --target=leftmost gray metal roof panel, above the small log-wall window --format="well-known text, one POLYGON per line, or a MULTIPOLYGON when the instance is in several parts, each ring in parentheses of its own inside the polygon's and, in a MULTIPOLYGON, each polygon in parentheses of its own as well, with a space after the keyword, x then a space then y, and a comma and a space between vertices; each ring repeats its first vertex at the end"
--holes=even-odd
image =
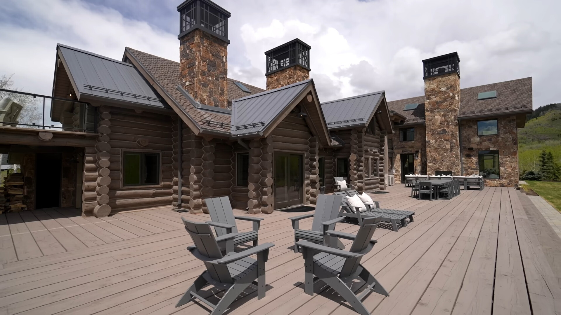
POLYGON ((58 44, 58 49, 80 95, 167 108, 167 105, 157 101, 159 96, 131 64, 66 45, 58 44))

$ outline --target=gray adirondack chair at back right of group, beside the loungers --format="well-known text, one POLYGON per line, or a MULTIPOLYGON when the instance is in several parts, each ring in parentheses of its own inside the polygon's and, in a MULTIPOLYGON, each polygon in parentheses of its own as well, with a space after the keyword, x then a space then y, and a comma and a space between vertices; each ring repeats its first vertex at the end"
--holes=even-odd
POLYGON ((294 252, 298 253, 299 248, 296 245, 298 240, 307 240, 309 242, 320 243, 337 247, 339 249, 345 248, 343 243, 338 239, 325 239, 325 231, 333 230, 335 224, 341 220, 341 196, 320 194, 316 201, 316 209, 314 213, 289 217, 292 221, 292 228, 294 229, 294 252), (307 217, 314 217, 311 230, 300 229, 300 220, 307 217))

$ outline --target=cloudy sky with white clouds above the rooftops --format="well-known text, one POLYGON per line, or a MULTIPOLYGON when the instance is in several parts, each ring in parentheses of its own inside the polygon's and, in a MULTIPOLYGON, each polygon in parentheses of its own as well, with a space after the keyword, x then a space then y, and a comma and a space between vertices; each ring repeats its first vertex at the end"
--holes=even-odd
MULTIPOLYGON (((125 46, 179 60, 181 0, 2 0, 0 76, 51 94, 56 43, 121 59, 125 46)), ((264 52, 311 45, 321 101, 423 94, 422 59, 458 52, 461 86, 532 76, 534 108, 561 102, 558 0, 215 0, 229 19, 228 76, 265 87, 264 52)))

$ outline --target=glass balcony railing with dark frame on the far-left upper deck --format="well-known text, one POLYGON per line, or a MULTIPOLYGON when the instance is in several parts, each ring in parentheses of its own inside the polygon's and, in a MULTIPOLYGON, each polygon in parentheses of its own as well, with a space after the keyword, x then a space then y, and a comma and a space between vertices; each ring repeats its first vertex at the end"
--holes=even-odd
POLYGON ((88 103, 0 89, 0 126, 95 132, 95 113, 88 103))

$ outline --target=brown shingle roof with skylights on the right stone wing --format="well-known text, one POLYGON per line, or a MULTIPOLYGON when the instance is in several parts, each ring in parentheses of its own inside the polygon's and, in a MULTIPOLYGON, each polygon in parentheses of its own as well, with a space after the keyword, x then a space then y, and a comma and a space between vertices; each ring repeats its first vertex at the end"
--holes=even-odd
MULTIPOLYGON (((532 77, 466 87, 460 92, 459 118, 532 111, 532 77), (477 100, 478 93, 488 91, 496 91, 496 98, 477 100)), ((406 117, 403 123, 425 122, 425 96, 389 101, 388 107, 406 117), (403 110, 406 104, 411 103, 420 104, 414 110, 403 110)))

